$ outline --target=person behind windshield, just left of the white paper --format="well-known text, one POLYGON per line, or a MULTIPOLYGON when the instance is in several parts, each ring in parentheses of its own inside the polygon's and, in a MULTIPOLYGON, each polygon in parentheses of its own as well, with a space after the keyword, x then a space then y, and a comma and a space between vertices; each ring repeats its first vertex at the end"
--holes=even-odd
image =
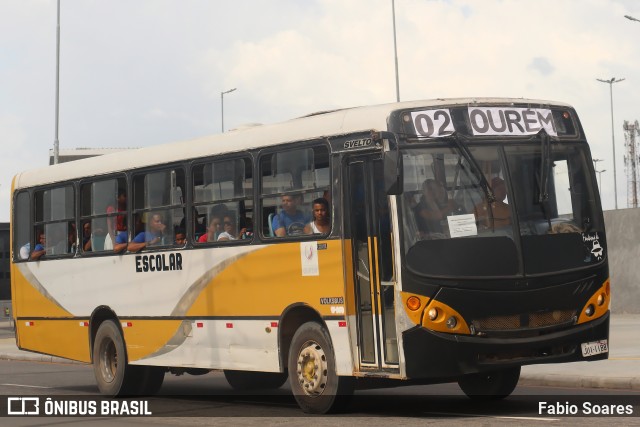
POLYGON ((462 209, 449 199, 440 181, 429 178, 422 183, 422 197, 413 212, 420 236, 423 239, 438 239, 447 237, 447 216, 460 214, 462 209))

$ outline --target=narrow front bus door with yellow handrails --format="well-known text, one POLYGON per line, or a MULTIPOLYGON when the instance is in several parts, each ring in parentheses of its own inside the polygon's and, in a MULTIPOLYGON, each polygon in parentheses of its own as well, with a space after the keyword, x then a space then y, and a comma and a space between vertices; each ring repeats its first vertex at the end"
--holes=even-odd
MULTIPOLYGON (((398 368, 391 221, 380 157, 347 158, 345 230, 351 238, 353 296, 362 371, 398 368)), ((349 281, 351 282, 351 281, 349 281)), ((351 293, 351 292, 350 292, 351 293)))

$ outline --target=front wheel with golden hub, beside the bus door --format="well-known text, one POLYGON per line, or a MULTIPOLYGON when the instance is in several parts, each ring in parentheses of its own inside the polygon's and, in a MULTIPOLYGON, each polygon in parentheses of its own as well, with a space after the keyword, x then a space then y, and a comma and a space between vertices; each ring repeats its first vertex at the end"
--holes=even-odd
POLYGON ((288 367, 291 391, 304 412, 339 412, 350 402, 353 378, 336 373, 331 337, 318 323, 304 323, 293 335, 288 367))

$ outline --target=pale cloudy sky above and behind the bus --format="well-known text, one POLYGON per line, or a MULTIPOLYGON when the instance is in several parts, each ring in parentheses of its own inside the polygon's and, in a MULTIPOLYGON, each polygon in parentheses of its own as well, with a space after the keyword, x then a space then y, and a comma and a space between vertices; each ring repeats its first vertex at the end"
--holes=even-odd
MULTIPOLYGON (((56 0, 0 0, 0 222, 12 177, 55 139, 56 0)), ((636 0, 395 0, 402 101, 573 105, 604 209, 626 208, 640 120, 636 0), (596 79, 624 78, 609 85, 596 79), (613 135, 610 89, 613 89, 613 135), (637 100, 636 100, 637 101, 637 100)), ((61 149, 144 147, 394 102, 391 0, 61 0, 61 149)))

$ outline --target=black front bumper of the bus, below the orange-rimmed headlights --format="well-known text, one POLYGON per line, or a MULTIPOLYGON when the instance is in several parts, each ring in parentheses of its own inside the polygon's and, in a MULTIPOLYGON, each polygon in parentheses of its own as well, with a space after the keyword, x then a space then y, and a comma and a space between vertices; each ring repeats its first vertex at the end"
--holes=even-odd
POLYGON ((583 357, 581 344, 608 339, 609 312, 567 330, 527 338, 447 334, 420 326, 403 333, 409 379, 455 378, 522 365, 607 359, 608 352, 583 357))

